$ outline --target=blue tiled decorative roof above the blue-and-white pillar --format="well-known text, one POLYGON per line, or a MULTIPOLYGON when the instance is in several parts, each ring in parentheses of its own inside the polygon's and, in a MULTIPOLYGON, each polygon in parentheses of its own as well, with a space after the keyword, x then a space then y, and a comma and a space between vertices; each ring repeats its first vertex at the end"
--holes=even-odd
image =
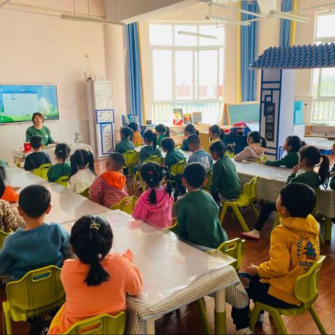
POLYGON ((249 65, 249 69, 333 67, 335 67, 335 43, 269 47, 249 65))

